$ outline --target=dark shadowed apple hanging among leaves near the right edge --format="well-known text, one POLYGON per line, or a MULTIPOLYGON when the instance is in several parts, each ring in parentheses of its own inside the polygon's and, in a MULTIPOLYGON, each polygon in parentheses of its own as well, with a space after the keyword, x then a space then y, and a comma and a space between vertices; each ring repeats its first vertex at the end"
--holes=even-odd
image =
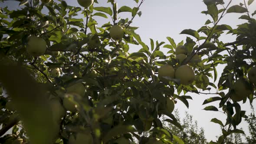
POLYGON ((233 85, 234 94, 231 96, 233 101, 242 101, 243 98, 246 98, 253 92, 250 91, 247 86, 246 82, 243 79, 238 79, 233 85))

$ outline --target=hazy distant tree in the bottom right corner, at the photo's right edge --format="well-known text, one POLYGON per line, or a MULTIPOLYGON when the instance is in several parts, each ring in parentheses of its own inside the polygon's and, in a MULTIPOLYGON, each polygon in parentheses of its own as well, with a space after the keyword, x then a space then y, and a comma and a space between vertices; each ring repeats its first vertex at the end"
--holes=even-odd
POLYGON ((256 116, 253 105, 251 105, 251 110, 251 114, 245 119, 249 125, 249 136, 246 136, 246 141, 249 144, 256 144, 256 116))

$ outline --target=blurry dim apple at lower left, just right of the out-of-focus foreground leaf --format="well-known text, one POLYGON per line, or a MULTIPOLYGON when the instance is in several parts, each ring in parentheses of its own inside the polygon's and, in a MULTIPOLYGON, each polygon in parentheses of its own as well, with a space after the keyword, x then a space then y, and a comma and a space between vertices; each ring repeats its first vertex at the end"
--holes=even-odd
POLYGON ((63 106, 61 105, 59 99, 57 98, 53 98, 50 101, 50 105, 53 109, 53 121, 59 122, 60 119, 66 115, 66 111, 63 108, 63 106))

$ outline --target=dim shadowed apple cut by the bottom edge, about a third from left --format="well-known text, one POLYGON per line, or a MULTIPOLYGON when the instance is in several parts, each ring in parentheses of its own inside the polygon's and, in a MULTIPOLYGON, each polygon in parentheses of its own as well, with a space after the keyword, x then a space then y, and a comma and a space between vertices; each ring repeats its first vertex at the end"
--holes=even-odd
POLYGON ((92 134, 89 132, 86 133, 77 133, 76 136, 71 135, 69 137, 68 144, 93 144, 92 134))

